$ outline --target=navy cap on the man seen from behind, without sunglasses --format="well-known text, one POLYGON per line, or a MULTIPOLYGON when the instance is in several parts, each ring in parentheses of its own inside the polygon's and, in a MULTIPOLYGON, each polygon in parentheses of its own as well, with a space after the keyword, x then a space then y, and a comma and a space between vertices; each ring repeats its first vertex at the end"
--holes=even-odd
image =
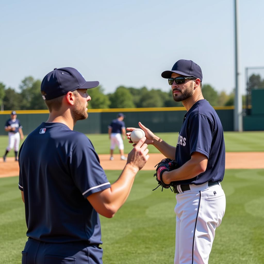
POLYGON ((45 96, 42 96, 43 99, 50 100, 77 89, 90 89, 98 85, 97 81, 86 82, 78 70, 66 67, 55 68, 49 72, 42 80, 40 90, 46 93, 45 96))

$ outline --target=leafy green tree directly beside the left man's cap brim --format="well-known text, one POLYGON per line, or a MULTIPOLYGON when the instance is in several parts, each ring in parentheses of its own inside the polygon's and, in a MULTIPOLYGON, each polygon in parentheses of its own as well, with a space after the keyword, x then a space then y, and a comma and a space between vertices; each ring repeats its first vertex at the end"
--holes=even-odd
POLYGON ((108 95, 103 93, 102 86, 99 85, 96 88, 88 89, 87 93, 92 98, 92 100, 88 102, 90 109, 109 108, 110 100, 108 95))

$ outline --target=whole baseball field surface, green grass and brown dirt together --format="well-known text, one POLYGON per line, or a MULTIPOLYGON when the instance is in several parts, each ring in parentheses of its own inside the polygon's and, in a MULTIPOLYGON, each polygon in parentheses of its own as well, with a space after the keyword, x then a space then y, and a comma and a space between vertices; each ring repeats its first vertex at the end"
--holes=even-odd
MULTIPOLYGON (((158 133, 157 133, 158 134, 158 133)), ((176 145, 177 133, 158 134, 176 145)), ((109 160, 107 134, 87 135, 100 156, 109 181, 124 167, 115 150, 109 160)), ((264 132, 225 132, 226 170, 221 183, 227 207, 210 254, 209 263, 264 263, 264 132)), ((0 136, 4 154, 7 136, 0 136)), ((132 146, 125 141, 125 153, 132 146)), ((101 217, 105 264, 172 263, 175 248, 175 194, 157 187, 154 166, 162 159, 149 146, 150 159, 135 179, 126 203, 114 218, 101 217)), ((0 160, 0 263, 21 263, 27 240, 24 206, 18 189, 18 163, 13 151, 0 160), (13 177, 10 177, 13 176, 13 177)))

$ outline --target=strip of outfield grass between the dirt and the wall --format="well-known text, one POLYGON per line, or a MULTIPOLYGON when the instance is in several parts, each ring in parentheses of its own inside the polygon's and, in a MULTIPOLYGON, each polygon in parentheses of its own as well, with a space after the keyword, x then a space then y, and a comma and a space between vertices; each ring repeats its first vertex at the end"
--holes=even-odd
MULTIPOLYGON (((178 132, 175 133, 156 133, 159 137, 165 140, 168 144, 176 146, 178 140, 178 132)), ((107 154, 110 149, 110 140, 108 134, 87 134, 88 138, 92 141, 95 150, 98 154, 107 154)), ((252 132, 225 132, 225 148, 226 151, 264 151, 264 131, 252 132)), ((23 141, 22 141, 23 142, 23 141)), ((22 144, 20 143, 20 145, 22 144)), ((4 154, 8 144, 8 136, 0 136, 0 157, 4 154), (2 153, 2 154, 1 154, 2 153)), ((129 153, 133 148, 128 140, 124 140, 125 153, 129 153)), ((159 151, 149 145, 150 153, 159 153, 159 151)), ((114 153, 119 153, 115 149, 114 153)), ((8 153, 9 157, 14 156, 13 150, 8 153)))

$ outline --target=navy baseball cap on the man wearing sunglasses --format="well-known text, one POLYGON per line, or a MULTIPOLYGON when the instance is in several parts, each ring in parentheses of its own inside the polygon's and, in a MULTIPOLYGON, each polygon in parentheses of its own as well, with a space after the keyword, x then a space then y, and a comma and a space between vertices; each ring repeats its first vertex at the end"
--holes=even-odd
POLYGON ((166 70, 161 74, 163 78, 171 78, 172 73, 178 73, 187 77, 199 78, 202 82, 202 70, 200 66, 192 60, 178 60, 171 70, 166 70))

